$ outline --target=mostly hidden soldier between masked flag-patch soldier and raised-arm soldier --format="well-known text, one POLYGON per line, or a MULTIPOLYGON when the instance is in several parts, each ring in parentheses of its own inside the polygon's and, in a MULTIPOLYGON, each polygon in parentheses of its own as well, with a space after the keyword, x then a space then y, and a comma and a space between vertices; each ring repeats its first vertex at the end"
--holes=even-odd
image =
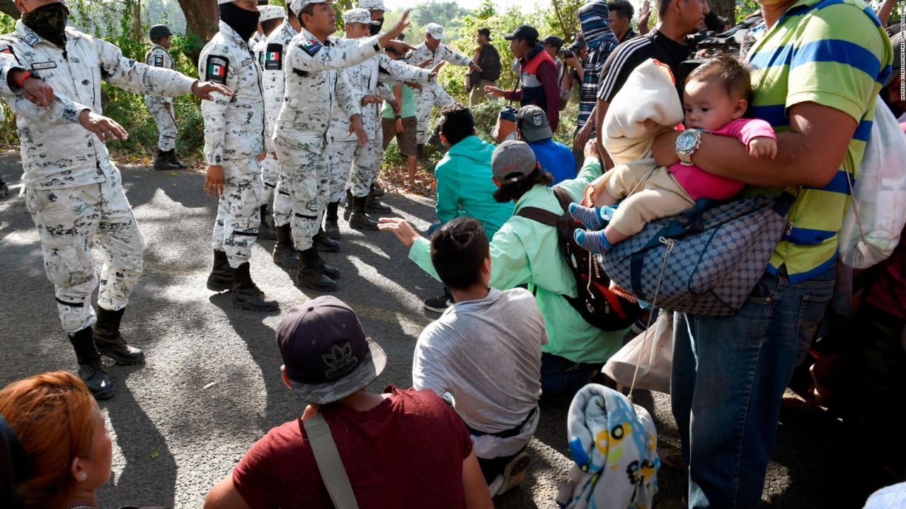
MULTIPOLYGON (((274 153, 274 130, 277 116, 283 106, 284 90, 286 89, 286 75, 284 74, 284 60, 286 48, 290 41, 293 40, 302 25, 299 24, 299 18, 289 6, 284 23, 267 37, 265 46, 265 64, 264 64, 264 93, 265 93, 265 147, 267 149, 267 158, 274 160, 276 163, 276 183, 265 179, 266 187, 272 187, 271 193, 274 196, 274 229, 277 242, 274 245, 274 263, 285 268, 294 268, 299 264, 299 255, 295 252, 293 245, 292 226, 290 218, 293 215, 293 203, 289 196, 289 188, 286 185, 285 175, 275 159, 274 153)), ((265 162, 268 160, 265 159, 265 162)))

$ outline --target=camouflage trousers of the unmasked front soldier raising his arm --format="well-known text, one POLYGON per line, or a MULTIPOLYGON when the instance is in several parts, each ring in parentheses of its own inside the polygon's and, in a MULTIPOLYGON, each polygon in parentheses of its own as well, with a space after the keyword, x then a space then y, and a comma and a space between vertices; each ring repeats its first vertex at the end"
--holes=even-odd
POLYGON ((312 247, 312 237, 318 233, 330 201, 333 148, 324 137, 302 144, 278 138, 275 149, 293 203, 293 242, 296 249, 304 251, 312 247))

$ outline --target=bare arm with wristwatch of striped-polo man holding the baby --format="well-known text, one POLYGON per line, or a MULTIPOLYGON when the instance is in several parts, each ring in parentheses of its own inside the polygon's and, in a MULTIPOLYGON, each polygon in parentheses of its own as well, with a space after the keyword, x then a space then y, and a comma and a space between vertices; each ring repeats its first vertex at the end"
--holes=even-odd
MULTIPOLYGON (((703 135, 692 162, 708 173, 750 186, 826 186, 846 156, 856 121, 816 102, 795 104, 789 119, 789 131, 777 134, 776 158, 752 158, 738 139, 703 135)), ((679 162, 678 136, 679 131, 669 131, 655 139, 654 158, 659 165, 679 162)))

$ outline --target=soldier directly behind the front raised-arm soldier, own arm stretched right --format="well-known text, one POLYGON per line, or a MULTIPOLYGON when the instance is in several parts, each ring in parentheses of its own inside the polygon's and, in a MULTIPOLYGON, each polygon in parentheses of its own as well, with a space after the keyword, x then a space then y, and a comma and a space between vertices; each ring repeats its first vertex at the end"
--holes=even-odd
MULTIPOLYGON (((372 17, 366 9, 353 9, 343 14, 346 39, 340 43, 354 43, 356 39, 367 36, 371 26, 381 24, 372 17)), ((390 59, 386 53, 381 53, 365 62, 347 68, 344 72, 349 76, 352 88, 360 91, 364 96, 373 98, 369 104, 361 105, 361 121, 368 134, 369 142, 364 147, 357 146, 354 137, 347 134, 349 121, 345 120, 343 115, 334 117, 331 135, 336 147, 333 154, 335 155, 334 160, 339 163, 334 166, 341 168, 335 168, 336 173, 332 181, 342 182, 346 189, 348 214, 345 217, 350 220, 350 226, 356 229, 376 230, 377 222, 365 213, 390 212, 389 206, 381 204, 376 198, 370 196, 375 174, 383 159, 380 105, 383 99, 390 102, 396 101, 392 92, 386 87, 379 86, 379 83, 418 82, 427 85, 433 81, 437 71, 428 71, 397 62, 390 59), (351 163, 347 163, 347 161, 351 161, 351 163), (368 197, 368 201, 366 201, 365 210, 353 215, 353 220, 350 215, 353 214, 352 210, 355 207, 353 202, 356 197, 368 197)), ((343 196, 343 187, 332 186, 332 188, 334 189, 332 203, 327 206, 325 230, 327 235, 339 237, 340 230, 337 227, 336 211, 343 196)))

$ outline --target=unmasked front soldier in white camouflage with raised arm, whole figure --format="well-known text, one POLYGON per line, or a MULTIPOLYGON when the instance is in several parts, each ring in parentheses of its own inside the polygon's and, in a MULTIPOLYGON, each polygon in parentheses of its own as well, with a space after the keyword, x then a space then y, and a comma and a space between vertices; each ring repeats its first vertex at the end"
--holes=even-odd
POLYGON ((361 93, 352 89, 343 68, 381 53, 406 26, 404 14, 390 34, 373 36, 355 44, 335 45, 336 30, 331 5, 311 0, 293 0, 290 8, 299 14, 303 29, 289 44, 284 62, 286 91, 274 133, 280 166, 293 198, 293 240, 299 250, 296 283, 304 288, 333 291, 339 269, 324 264, 313 237, 329 201, 330 145, 328 130, 333 109, 350 114, 350 130, 361 144, 368 140, 361 124, 361 93))

